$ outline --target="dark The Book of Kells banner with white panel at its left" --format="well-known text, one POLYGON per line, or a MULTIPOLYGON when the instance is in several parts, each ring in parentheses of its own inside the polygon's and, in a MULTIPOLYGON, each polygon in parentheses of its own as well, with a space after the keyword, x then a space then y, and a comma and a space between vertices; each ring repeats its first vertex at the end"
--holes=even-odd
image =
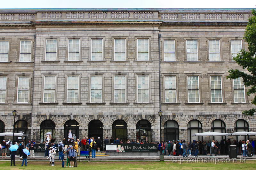
POLYGON ((157 144, 106 144, 109 152, 157 152, 157 144))

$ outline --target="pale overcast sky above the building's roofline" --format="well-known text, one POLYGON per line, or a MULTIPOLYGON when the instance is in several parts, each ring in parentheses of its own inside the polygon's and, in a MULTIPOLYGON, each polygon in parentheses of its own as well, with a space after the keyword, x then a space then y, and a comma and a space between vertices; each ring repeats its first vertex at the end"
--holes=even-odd
POLYGON ((0 8, 255 8, 256 0, 0 0, 0 8))

